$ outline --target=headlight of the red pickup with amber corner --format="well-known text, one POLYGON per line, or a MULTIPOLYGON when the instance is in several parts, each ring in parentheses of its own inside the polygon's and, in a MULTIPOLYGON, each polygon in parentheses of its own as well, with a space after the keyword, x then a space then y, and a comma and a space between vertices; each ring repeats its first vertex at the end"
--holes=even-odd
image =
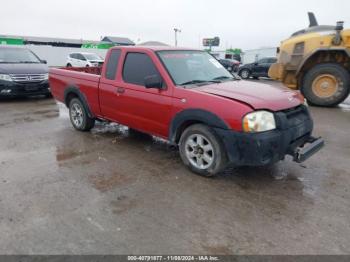
POLYGON ((275 117, 268 111, 256 111, 243 118, 243 131, 263 132, 276 128, 275 117))

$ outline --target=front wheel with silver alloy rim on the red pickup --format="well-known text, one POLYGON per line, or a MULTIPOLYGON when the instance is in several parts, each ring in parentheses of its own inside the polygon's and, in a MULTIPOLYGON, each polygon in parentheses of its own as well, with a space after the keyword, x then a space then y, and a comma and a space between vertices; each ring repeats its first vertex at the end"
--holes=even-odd
POLYGON ((179 147, 183 163, 201 176, 214 176, 227 166, 225 148, 208 126, 195 124, 188 127, 181 135, 179 147))

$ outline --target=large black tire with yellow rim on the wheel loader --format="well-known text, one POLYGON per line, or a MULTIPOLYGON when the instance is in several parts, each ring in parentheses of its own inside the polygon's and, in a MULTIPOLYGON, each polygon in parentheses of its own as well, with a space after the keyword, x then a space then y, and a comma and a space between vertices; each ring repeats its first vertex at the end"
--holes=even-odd
MULTIPOLYGON (((329 83, 327 81, 325 80, 324 82, 327 83, 326 88, 329 88, 329 83)), ((314 66, 305 74, 300 90, 305 96, 309 105, 325 107, 336 106, 343 102, 349 95, 350 74, 344 67, 339 64, 319 64, 314 66), (334 94, 331 94, 330 96, 322 96, 322 89, 320 89, 321 87, 318 87, 318 81, 321 80, 318 79, 322 78, 322 76, 325 76, 324 79, 330 79, 329 81, 331 81, 331 78, 326 78, 327 75, 330 75, 335 79, 334 81, 336 82, 337 88, 334 94), (317 94, 317 92, 319 92, 319 94, 317 94)))

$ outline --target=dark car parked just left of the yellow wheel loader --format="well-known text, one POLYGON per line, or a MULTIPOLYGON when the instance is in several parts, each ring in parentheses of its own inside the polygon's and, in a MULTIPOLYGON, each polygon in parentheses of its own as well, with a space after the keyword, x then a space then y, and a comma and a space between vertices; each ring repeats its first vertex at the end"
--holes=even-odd
POLYGON ((238 69, 238 74, 243 79, 248 79, 249 77, 253 77, 255 79, 259 77, 269 77, 269 69, 270 66, 276 63, 277 58, 275 57, 265 57, 258 60, 255 63, 242 65, 238 69))

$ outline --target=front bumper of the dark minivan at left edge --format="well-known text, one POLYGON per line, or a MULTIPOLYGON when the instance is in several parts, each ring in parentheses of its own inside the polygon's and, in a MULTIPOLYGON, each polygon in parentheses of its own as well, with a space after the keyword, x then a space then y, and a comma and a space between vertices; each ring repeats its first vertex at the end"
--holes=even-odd
POLYGON ((8 82, 0 80, 0 97, 49 95, 48 81, 42 82, 8 82))

